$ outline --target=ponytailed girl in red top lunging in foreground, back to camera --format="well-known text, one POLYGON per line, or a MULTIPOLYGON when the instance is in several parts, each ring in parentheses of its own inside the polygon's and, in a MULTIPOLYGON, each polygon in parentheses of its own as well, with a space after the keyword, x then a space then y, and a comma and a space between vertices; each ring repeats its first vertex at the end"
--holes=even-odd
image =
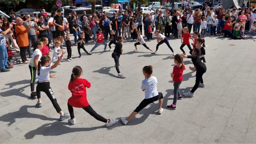
POLYGON ((86 87, 90 88, 91 83, 86 79, 80 78, 82 73, 83 70, 80 66, 75 66, 72 70, 70 82, 68 84, 68 90, 72 93, 72 96, 68 99, 68 111, 70 113, 70 119, 68 121, 71 124, 76 123, 73 109, 73 107, 76 107, 83 108, 98 121, 106 123, 107 127, 116 124, 116 119, 106 119, 92 109, 86 98, 86 87))

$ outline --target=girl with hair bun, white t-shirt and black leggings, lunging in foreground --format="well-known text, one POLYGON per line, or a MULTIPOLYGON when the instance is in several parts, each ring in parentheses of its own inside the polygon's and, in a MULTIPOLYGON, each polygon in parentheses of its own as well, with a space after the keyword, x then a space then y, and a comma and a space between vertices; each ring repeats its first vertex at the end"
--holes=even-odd
POLYGON ((141 90, 145 92, 145 99, 140 102, 140 105, 131 113, 130 116, 123 117, 121 116, 121 121, 124 124, 127 124, 130 119, 132 119, 134 116, 136 116, 140 110, 147 107, 149 104, 153 103, 154 101, 158 102, 158 114, 162 114, 163 108, 163 94, 161 92, 157 92, 157 79, 155 76, 152 75, 153 73, 153 67, 151 65, 145 66, 143 69, 143 75, 145 76, 145 79, 142 81, 141 84, 141 90))

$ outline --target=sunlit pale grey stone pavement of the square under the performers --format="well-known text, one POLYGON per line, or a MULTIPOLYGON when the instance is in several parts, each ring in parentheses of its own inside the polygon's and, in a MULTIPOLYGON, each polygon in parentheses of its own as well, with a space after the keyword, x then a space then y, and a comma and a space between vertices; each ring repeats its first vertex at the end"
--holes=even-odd
MULTIPOLYGON (((168 39, 174 51, 181 53, 180 39, 168 39)), ((124 41, 119 68, 125 79, 116 77, 112 52, 103 52, 103 46, 96 48, 91 56, 82 52, 81 58, 73 46, 74 60, 62 61, 62 65, 55 69, 56 78, 50 80, 52 90, 62 110, 68 112, 71 71, 74 66, 81 66, 82 78, 92 84, 87 89, 92 108, 106 118, 118 120, 109 128, 82 108, 74 108, 75 125, 70 125, 68 119, 58 121, 59 114, 43 92, 43 107, 35 108, 37 100, 29 97, 28 64, 15 65, 10 72, 0 73, 0 143, 255 144, 255 39, 206 37, 205 41, 205 87, 198 88, 192 98, 178 100, 176 110, 165 108, 173 100, 170 72, 174 66, 172 52, 165 44, 159 47, 157 54, 151 54, 142 45, 138 46, 138 52, 133 52, 134 42, 124 41), (140 86, 144 79, 142 68, 146 65, 153 66, 157 90, 164 95, 164 111, 157 114, 156 101, 124 125, 120 116, 129 116, 144 99, 140 86)), ((156 40, 146 44, 156 49, 156 40)), ((90 51, 93 45, 91 42, 86 44, 86 50, 90 51)), ((189 52, 186 46, 184 50, 189 52)), ((184 59, 184 64, 187 68, 193 65, 190 59, 184 59)), ((181 93, 194 86, 195 74, 189 69, 184 71, 181 93)))

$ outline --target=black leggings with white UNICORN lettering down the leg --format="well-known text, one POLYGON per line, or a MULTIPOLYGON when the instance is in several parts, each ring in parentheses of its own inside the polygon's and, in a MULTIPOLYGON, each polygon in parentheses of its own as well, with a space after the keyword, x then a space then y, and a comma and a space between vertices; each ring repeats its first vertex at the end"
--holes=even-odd
POLYGON ((37 99, 41 98, 41 92, 44 92, 48 96, 48 98, 52 102, 53 107, 56 109, 57 113, 59 113, 61 111, 61 108, 55 98, 52 88, 50 87, 50 82, 44 82, 44 83, 37 82, 37 86, 36 86, 37 99))

